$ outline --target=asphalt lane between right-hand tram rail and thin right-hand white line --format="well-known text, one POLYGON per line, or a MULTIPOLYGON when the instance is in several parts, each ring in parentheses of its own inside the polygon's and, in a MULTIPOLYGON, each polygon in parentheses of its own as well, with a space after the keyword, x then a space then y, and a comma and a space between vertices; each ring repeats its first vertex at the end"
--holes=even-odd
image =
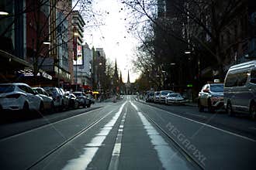
MULTIPOLYGON (((182 110, 185 111, 189 107, 171 111, 164 105, 160 109, 159 106, 152 107, 140 102, 136 102, 136 104, 144 114, 157 122, 190 155, 198 159, 199 162, 203 159, 204 161, 201 163, 205 165, 206 169, 256 169, 254 163, 249 163, 254 162, 256 158, 254 139, 195 121, 195 117, 188 118, 187 114, 182 114, 182 110)), ((196 111, 194 113, 196 114, 196 111)))

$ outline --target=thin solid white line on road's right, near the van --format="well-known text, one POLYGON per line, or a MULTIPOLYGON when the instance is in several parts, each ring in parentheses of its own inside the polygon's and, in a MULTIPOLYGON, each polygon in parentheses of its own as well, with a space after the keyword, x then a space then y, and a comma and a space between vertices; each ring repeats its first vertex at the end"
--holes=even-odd
MULTIPOLYGON (((150 105, 147 105, 147 106, 148 106, 148 107, 151 107, 150 105)), ((248 140, 248 141, 256 142, 256 141, 255 141, 254 139, 252 139, 252 138, 247 138, 247 137, 245 137, 245 136, 243 136, 243 135, 236 134, 236 133, 231 132, 231 131, 226 131, 226 130, 223 130, 223 129, 220 129, 220 128, 216 128, 215 126, 212 126, 212 125, 209 125, 209 124, 204 124, 204 123, 199 122, 199 121, 194 121, 194 120, 189 119, 189 118, 187 118, 187 117, 182 117, 182 116, 180 116, 180 115, 178 115, 178 114, 174 114, 174 113, 171 113, 171 112, 166 111, 166 110, 162 110, 162 109, 157 108, 157 107, 152 107, 152 108, 154 108, 154 109, 156 109, 156 110, 164 111, 164 112, 166 112, 166 113, 168 113, 168 114, 171 114, 171 115, 173 115, 173 116, 176 116, 176 117, 181 117, 181 118, 183 118, 183 119, 185 119, 185 120, 188 120, 188 121, 192 121, 192 122, 195 122, 195 123, 198 123, 198 124, 202 124, 202 125, 204 125, 204 126, 206 126, 206 127, 208 127, 208 128, 213 128, 213 129, 215 129, 215 130, 222 131, 222 132, 225 132, 225 133, 227 133, 227 134, 232 134, 232 135, 234 135, 234 136, 236 136, 236 137, 243 138, 243 139, 248 140)))

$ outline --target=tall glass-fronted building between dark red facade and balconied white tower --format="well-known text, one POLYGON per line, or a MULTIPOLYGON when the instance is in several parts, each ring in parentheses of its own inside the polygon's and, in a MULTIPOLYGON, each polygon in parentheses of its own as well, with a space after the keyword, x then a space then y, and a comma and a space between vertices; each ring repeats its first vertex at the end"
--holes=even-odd
POLYGON ((68 46, 70 40, 71 27, 71 1, 67 0, 50 0, 56 8, 50 11, 50 53, 49 57, 43 62, 43 69, 47 70, 54 76, 50 85, 57 87, 66 87, 71 83, 71 71, 69 68, 69 60, 73 58, 69 51, 72 50, 68 46))

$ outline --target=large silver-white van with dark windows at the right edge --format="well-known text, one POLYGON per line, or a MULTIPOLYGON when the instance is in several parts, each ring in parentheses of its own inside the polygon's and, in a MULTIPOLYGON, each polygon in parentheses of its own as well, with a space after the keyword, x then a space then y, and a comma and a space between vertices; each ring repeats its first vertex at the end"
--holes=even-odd
POLYGON ((250 114, 256 118, 256 60, 230 67, 224 81, 224 107, 227 114, 250 114))

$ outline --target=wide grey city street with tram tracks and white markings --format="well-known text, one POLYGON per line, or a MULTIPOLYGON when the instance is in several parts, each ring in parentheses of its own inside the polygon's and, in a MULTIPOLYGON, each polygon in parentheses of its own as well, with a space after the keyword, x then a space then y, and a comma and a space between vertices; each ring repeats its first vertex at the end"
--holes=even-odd
POLYGON ((2 169, 256 169, 255 121, 131 95, 0 132, 2 169))

